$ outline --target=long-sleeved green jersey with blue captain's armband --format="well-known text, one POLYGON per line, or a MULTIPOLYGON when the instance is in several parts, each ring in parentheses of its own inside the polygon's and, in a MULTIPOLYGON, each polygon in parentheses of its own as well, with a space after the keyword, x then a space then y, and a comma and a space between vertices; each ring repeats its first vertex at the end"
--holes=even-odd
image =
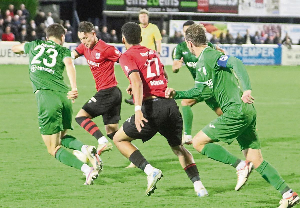
POLYGON ((241 97, 238 77, 244 91, 251 90, 250 79, 241 60, 206 47, 197 62, 195 86, 187 91, 176 92, 175 99, 195 99, 209 88, 223 113, 232 111, 235 116, 256 114, 252 104, 245 104, 241 97))

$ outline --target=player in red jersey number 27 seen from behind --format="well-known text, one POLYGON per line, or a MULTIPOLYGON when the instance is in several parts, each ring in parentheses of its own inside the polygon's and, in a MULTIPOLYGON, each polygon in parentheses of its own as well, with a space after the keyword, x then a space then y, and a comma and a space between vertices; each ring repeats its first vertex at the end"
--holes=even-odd
POLYGON ((123 43, 127 49, 120 64, 131 83, 130 92, 135 99, 135 114, 131 116, 113 137, 119 151, 147 175, 146 195, 150 196, 161 179, 161 170, 152 167, 131 142, 150 140, 157 132, 166 137, 180 164, 194 184, 199 197, 208 195, 200 181, 193 156, 181 143, 183 120, 174 99, 165 99, 166 71, 155 51, 140 45, 141 28, 137 23, 122 27, 123 43))

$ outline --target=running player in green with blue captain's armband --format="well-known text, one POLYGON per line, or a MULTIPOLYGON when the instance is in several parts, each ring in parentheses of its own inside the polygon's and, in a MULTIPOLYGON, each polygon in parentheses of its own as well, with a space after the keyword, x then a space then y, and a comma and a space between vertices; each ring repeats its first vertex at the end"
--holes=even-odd
POLYGON ((208 47, 203 25, 190 26, 186 31, 186 40, 191 53, 199 57, 195 86, 187 91, 176 92, 174 89, 167 89, 166 98, 194 99, 208 88, 223 111, 223 115, 205 126, 194 137, 194 148, 208 158, 230 164, 237 169, 236 191, 245 184, 252 168, 255 168, 283 195, 280 208, 292 207, 299 203, 298 194, 293 192, 277 170, 262 158, 256 132, 254 98, 251 96, 250 79, 243 62, 208 47), (231 144, 235 139, 238 140, 246 161, 240 160, 214 143, 223 141, 231 144))

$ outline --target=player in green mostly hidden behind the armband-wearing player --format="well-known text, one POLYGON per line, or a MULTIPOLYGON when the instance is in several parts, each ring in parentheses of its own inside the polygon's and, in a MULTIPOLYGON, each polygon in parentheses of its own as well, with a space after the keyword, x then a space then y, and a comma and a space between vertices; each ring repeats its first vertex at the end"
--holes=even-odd
MULTIPOLYGON (((185 31, 191 26, 195 24, 193 21, 187 21, 183 24, 183 34, 185 38, 185 31)), ((223 49, 218 47, 217 45, 211 44, 208 42, 208 46, 211 48, 214 48, 216 50, 219 50, 221 52, 225 52, 223 49)), ((196 79, 196 65, 198 61, 198 57, 194 56, 192 53, 190 53, 190 50, 187 47, 187 43, 185 41, 181 42, 177 45, 177 47, 174 50, 173 54, 173 66, 172 70, 174 73, 178 73, 179 69, 182 67, 182 63, 184 62, 187 66, 188 70, 190 71, 193 79, 196 79)), ((183 124, 184 124, 184 134, 182 137, 182 143, 183 144, 192 144, 193 138, 192 138, 192 124, 193 124, 193 111, 192 108, 195 104, 205 101, 206 104, 217 113, 218 116, 222 115, 223 112, 219 107, 219 104, 214 99, 213 95, 209 90, 206 90, 205 93, 196 99, 184 99, 181 101, 182 105, 182 117, 183 117, 183 124)))

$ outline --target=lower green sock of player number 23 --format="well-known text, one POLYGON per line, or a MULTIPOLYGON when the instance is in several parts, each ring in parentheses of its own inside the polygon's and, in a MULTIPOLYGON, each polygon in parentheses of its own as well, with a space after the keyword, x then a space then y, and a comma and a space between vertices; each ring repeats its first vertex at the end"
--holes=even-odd
POLYGON ((57 150, 55 158, 61 163, 67 166, 75 167, 79 170, 81 170, 81 167, 84 164, 82 161, 77 159, 75 155, 63 148, 57 150))

